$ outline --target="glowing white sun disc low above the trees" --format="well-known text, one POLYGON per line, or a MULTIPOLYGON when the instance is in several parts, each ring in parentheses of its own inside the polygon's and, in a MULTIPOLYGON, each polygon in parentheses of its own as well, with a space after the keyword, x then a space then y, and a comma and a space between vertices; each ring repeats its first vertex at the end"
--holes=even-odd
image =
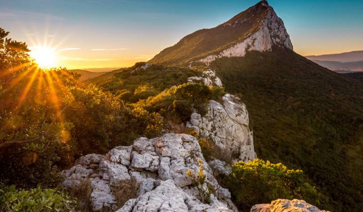
POLYGON ((56 53, 51 47, 33 47, 29 54, 41 68, 53 68, 56 66, 56 53))

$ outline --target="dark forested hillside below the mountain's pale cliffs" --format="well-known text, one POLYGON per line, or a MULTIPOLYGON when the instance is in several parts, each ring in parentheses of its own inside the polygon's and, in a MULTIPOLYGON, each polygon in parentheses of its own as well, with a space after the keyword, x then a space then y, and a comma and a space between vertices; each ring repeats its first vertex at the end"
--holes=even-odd
POLYGON ((361 83, 280 48, 210 67, 246 104, 258 158, 302 169, 332 211, 363 207, 361 83))

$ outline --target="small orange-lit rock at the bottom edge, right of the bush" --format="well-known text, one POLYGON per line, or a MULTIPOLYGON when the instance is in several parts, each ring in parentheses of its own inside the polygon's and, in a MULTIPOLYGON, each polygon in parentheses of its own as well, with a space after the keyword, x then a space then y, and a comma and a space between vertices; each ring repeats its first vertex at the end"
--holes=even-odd
POLYGON ((303 200, 283 200, 277 199, 271 204, 259 204, 251 208, 250 212, 326 212, 303 200))

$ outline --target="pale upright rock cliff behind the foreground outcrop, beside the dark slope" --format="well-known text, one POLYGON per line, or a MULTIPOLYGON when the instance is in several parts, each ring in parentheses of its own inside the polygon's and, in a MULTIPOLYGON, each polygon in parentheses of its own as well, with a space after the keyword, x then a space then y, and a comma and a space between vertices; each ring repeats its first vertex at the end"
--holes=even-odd
POLYGON ((224 95, 222 101, 209 101, 204 116, 193 112, 186 126, 214 142, 225 154, 233 156, 234 162, 255 159, 253 134, 248 125, 245 104, 231 94, 224 95))

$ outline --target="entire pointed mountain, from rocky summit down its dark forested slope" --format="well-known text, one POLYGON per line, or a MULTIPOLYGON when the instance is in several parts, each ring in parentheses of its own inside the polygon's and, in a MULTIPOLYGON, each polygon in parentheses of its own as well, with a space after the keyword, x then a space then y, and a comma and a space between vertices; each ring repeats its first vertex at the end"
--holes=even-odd
POLYGON ((258 158, 302 169, 324 194, 323 208, 363 208, 363 85, 294 53, 267 1, 150 62, 215 70, 246 103, 258 158))

